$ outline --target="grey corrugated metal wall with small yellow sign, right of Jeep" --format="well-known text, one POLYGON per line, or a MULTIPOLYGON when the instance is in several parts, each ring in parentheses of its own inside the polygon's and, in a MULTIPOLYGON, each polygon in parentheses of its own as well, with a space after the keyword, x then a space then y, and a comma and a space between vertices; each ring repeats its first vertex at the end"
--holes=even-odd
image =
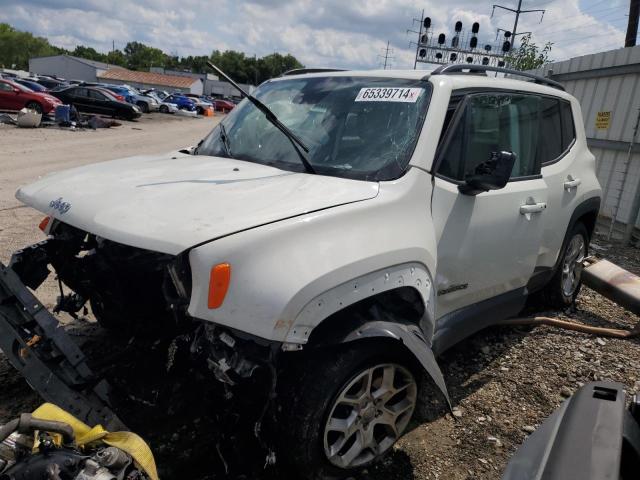
POLYGON ((640 227, 637 136, 628 154, 640 115, 640 46, 550 63, 534 73, 562 83, 580 101, 603 189, 601 217, 615 218, 618 232, 629 222, 640 227))

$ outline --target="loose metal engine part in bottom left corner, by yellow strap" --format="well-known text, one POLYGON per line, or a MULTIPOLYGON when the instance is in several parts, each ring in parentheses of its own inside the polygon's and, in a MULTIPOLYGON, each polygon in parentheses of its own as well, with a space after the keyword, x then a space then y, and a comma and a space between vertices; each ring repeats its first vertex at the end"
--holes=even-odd
POLYGON ((113 446, 75 445, 70 425, 22 414, 0 427, 1 480, 149 480, 129 454, 113 446), (34 435, 37 432, 36 443, 34 435), (51 434, 62 435, 58 443, 51 434))

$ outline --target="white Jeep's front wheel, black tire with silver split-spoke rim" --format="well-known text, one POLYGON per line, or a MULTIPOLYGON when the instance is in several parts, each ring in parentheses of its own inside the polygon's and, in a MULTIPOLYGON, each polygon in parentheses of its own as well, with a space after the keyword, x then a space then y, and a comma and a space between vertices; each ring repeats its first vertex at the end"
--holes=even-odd
POLYGON ((292 403, 281 409, 280 422, 298 475, 343 478, 389 452, 418 395, 414 363, 400 346, 353 342, 303 363, 304 371, 285 382, 284 403, 292 403))

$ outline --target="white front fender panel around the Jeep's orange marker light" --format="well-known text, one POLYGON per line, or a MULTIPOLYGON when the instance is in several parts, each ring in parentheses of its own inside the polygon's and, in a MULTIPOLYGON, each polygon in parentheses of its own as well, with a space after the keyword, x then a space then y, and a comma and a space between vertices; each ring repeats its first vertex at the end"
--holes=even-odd
POLYGON ((437 251, 428 216, 430 188, 430 176, 414 168, 396 181, 381 184, 375 198, 268 223, 194 247, 189 251, 193 285, 189 315, 265 340, 300 345, 305 343, 304 335, 288 338, 299 333, 297 328, 293 332, 294 325, 312 329, 340 302, 345 307, 389 288, 391 280, 400 280, 396 274, 402 276, 404 286, 428 298, 428 276, 422 272, 435 271, 437 251), (207 305, 210 272, 219 263, 231 265, 231 281, 223 304, 211 309, 207 305), (389 282, 383 287, 387 273, 389 282), (368 291, 362 283, 349 283, 369 276, 368 291), (333 295, 343 287, 349 287, 345 296, 333 295), (317 304, 310 316, 301 313, 325 295, 335 305, 319 309, 324 314, 316 310, 317 304))

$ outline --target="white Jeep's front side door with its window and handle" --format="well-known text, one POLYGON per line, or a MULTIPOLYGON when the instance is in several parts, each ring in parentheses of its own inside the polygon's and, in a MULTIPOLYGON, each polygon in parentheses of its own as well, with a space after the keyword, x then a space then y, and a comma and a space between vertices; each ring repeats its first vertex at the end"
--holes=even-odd
POLYGON ((438 317, 503 294, 523 297, 537 265, 547 202, 538 157, 540 102, 536 95, 480 92, 457 106, 434 167, 438 317), (516 154, 507 185, 460 193, 465 177, 500 151, 516 154))

